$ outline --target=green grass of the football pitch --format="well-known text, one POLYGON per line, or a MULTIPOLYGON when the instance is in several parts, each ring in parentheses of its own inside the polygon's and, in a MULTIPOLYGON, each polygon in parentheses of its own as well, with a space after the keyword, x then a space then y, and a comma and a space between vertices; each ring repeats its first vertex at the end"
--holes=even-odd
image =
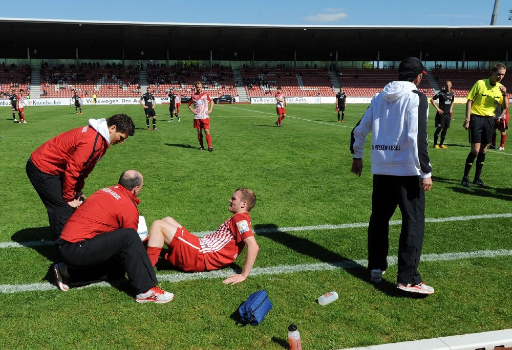
MULTIPOLYGON (((333 105, 290 104, 283 128, 275 127, 273 105, 216 105, 211 116, 215 151, 198 151, 186 107, 181 122, 167 122, 157 106, 159 132, 148 132, 140 106, 26 108, 28 124, 9 121, 0 108, 0 242, 50 239, 48 218, 25 174, 30 153, 41 143, 89 118, 127 113, 134 137, 109 149, 86 181, 90 194, 117 182, 125 169, 144 176, 141 214, 148 225, 166 215, 191 232, 214 230, 229 216, 228 199, 238 187, 252 188, 258 204, 255 227, 313 226, 368 222, 372 176, 369 152, 364 172, 350 172, 350 132, 366 105, 347 107, 336 123, 333 105)), ((510 159, 490 151, 482 173, 490 189, 460 186, 469 151, 462 128, 463 105, 456 105, 446 144, 430 148, 434 185, 426 193, 426 217, 509 213, 510 159)), ((434 111, 429 119, 433 138, 434 111)), ((430 142, 432 145, 432 142, 430 142)), ((474 169, 473 169, 474 171, 474 169)), ((474 172, 472 172, 473 175, 474 172)), ((399 211, 392 220, 400 220, 399 211)), ((396 256, 400 227, 390 228, 390 256, 396 256)), ((255 268, 299 266, 366 258, 366 228, 257 234, 255 268)), ((510 218, 427 223, 423 254, 512 249, 510 218)), ((0 285, 52 282, 52 246, 2 248, 0 285)), ((233 267, 241 267, 244 255, 233 267)), ((4 293, 0 297, 0 338, 4 348, 282 349, 290 323, 304 348, 337 349, 510 328, 510 256, 423 261, 420 272, 436 289, 427 298, 396 292, 396 266, 375 287, 365 269, 297 271, 252 275, 235 286, 222 278, 162 280, 176 297, 163 305, 138 304, 129 289, 90 287, 63 293, 4 293), (236 325, 230 315, 251 292, 266 289, 274 308, 257 327, 236 325), (339 299, 319 306, 315 299, 337 291, 339 299)), ((180 275, 159 265, 157 274, 180 275)))

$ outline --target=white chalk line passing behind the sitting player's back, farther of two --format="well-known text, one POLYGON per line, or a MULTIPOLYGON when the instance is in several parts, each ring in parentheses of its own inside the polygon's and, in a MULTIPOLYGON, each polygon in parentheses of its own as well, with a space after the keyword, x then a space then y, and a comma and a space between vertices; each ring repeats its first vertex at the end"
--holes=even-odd
MULTIPOLYGON (((482 214, 482 215, 468 215, 468 216, 448 216, 448 217, 432 217, 425 218, 426 223, 448 223, 454 221, 467 221, 467 220, 479 220, 479 219, 491 219, 491 218, 504 218, 512 217, 512 213, 503 214, 482 214)), ((401 220, 390 221, 390 225, 401 225, 401 220)), ((261 233, 274 233, 274 232, 297 232, 297 231, 314 231, 314 230, 341 230, 347 228, 358 228, 368 227, 368 223, 350 223, 350 224, 339 224, 339 225, 315 225, 315 226, 291 226, 291 227, 268 227, 255 229, 254 232, 257 234, 261 233)), ((204 237, 207 234, 213 233, 214 231, 201 231, 194 232, 198 237, 204 237)), ((37 247, 37 246, 52 246, 53 240, 30 240, 28 242, 1 242, 0 248, 26 248, 26 247, 37 247)))

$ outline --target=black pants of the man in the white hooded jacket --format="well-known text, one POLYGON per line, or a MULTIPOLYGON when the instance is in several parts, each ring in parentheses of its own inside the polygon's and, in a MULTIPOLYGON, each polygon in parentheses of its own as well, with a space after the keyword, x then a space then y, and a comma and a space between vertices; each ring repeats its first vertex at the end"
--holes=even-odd
POLYGON ((418 176, 373 176, 372 215, 368 227, 368 268, 388 268, 389 220, 402 212, 398 243, 398 283, 420 283, 418 265, 425 230, 425 193, 418 176))

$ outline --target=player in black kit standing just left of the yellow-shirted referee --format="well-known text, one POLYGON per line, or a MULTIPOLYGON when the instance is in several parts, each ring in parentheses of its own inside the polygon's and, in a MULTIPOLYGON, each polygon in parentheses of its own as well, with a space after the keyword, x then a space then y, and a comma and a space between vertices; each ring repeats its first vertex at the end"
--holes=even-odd
POLYGON ((446 138, 446 132, 450 128, 454 99, 455 94, 452 91, 452 82, 450 80, 444 83, 443 90, 430 99, 430 103, 432 103, 437 110, 435 122, 436 132, 434 133, 435 149, 448 149, 448 147, 444 145, 444 139, 446 138), (439 100, 439 106, 436 105, 435 100, 439 100), (437 140, 439 139, 439 134, 441 134, 441 142, 439 142, 438 145, 437 140))

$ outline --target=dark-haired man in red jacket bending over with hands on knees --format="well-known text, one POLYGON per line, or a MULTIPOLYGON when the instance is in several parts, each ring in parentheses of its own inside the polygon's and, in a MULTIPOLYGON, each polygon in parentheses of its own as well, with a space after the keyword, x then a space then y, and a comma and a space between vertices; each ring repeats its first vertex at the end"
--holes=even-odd
POLYGON ((50 229, 58 238, 66 221, 86 199, 84 180, 110 145, 123 143, 135 133, 125 114, 89 119, 89 125, 72 129, 45 142, 27 161, 27 176, 48 211, 50 229))

